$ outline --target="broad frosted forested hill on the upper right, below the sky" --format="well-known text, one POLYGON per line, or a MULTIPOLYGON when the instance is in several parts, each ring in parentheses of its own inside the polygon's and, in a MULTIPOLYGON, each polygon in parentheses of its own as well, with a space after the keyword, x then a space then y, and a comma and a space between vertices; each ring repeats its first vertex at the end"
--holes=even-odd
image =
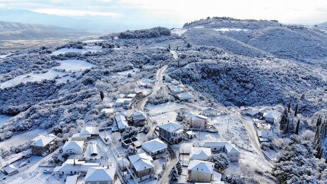
POLYGON ((269 53, 278 58, 306 62, 327 57, 326 27, 214 17, 186 23, 183 28, 190 29, 184 35, 186 39, 190 37, 189 42, 220 47, 235 54, 262 57, 269 53), (201 36, 193 39, 195 35, 201 36))

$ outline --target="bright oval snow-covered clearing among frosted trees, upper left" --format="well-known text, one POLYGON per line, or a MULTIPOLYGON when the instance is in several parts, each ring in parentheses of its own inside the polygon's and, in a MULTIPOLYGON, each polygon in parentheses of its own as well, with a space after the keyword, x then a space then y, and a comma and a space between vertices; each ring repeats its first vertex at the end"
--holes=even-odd
POLYGON ((94 64, 91 64, 89 62, 86 62, 83 60, 77 60, 77 59, 58 60, 58 62, 60 62, 61 64, 59 66, 55 66, 53 68, 65 69, 66 71, 85 70, 87 68, 95 66, 94 64))

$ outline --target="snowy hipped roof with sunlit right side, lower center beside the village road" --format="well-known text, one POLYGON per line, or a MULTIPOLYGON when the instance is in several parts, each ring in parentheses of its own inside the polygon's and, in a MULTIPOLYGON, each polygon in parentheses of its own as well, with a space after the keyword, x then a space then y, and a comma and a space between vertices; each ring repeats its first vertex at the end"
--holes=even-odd
POLYGON ((142 171, 145 169, 153 168, 153 161, 151 156, 146 155, 145 153, 132 155, 128 157, 136 171, 142 171))

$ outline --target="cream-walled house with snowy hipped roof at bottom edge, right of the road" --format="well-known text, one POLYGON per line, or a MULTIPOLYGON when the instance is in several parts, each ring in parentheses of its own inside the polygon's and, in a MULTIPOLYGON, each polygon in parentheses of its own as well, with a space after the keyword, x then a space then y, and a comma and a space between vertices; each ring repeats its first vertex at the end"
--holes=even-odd
POLYGON ((209 183, 213 179, 214 163, 201 160, 191 160, 188 166, 189 179, 192 182, 209 183))

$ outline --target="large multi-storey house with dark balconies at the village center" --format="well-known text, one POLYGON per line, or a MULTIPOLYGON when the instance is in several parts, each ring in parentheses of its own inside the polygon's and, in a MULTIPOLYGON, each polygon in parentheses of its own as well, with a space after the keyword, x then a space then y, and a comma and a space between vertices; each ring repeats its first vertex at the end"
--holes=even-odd
POLYGON ((182 141, 183 126, 173 122, 160 125, 159 135, 173 144, 180 143, 182 141))

